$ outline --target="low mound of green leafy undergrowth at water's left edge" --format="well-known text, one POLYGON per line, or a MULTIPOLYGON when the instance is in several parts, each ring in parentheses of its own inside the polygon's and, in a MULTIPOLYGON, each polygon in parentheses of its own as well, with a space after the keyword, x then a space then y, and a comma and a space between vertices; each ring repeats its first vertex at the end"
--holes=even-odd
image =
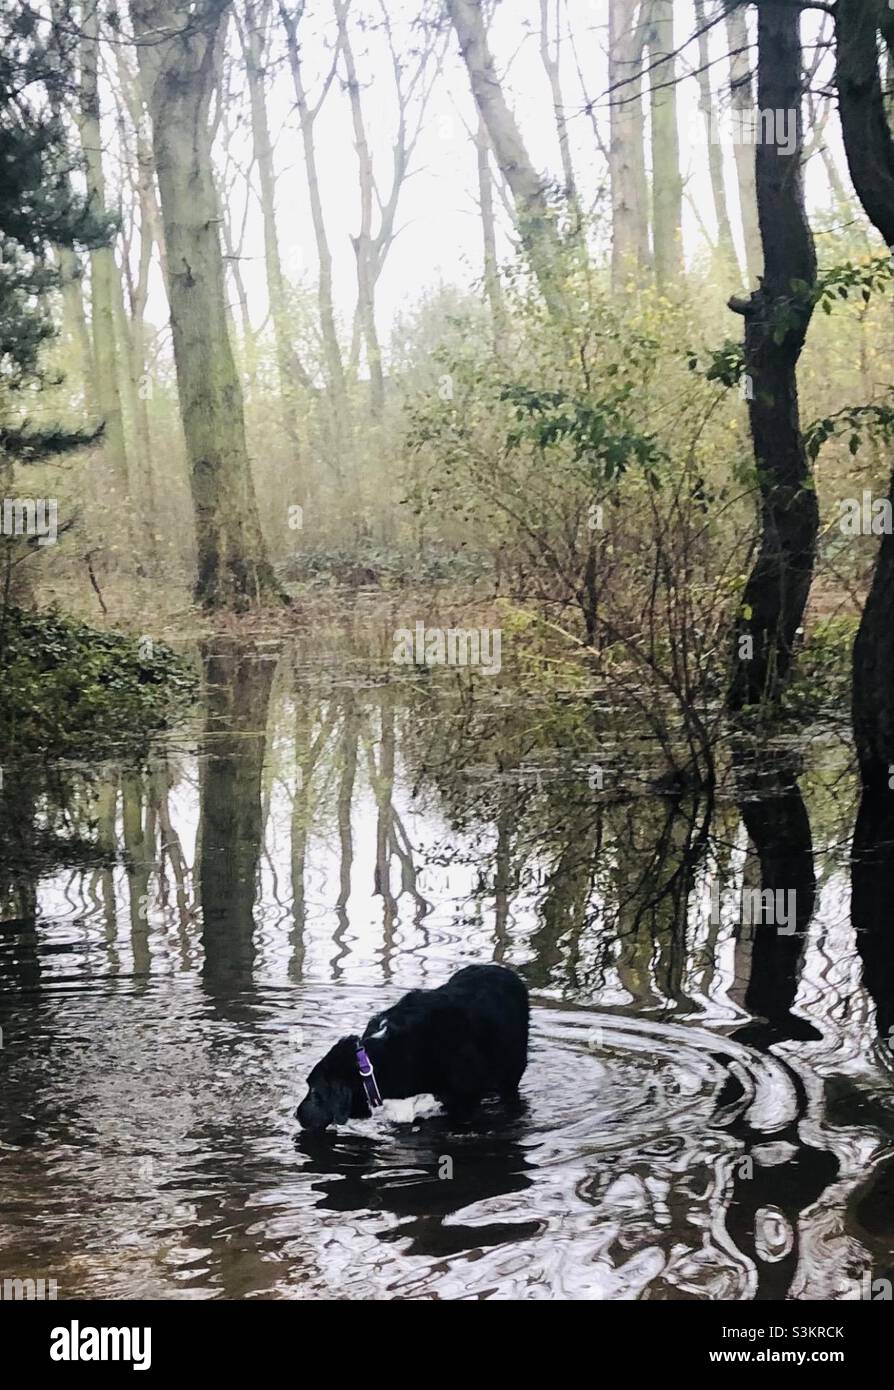
POLYGON ((192 702, 189 663, 152 637, 101 632, 47 610, 0 627, 0 752, 75 753, 142 742, 192 702))

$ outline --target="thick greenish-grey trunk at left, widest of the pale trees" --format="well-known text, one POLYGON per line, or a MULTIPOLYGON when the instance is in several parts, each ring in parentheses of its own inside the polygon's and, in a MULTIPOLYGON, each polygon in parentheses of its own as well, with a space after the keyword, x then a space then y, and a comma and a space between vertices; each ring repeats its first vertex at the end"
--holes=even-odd
POLYGON ((209 607, 281 596, 267 560, 227 328, 209 110, 224 0, 132 0, 168 252, 171 334, 209 607))

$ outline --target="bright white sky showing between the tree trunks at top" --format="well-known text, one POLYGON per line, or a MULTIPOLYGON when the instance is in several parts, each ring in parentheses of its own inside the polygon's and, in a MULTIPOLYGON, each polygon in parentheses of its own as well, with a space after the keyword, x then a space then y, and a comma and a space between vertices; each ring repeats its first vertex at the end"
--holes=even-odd
MULTIPOLYGON (((363 31, 357 24, 363 15, 370 15, 374 19, 381 18, 380 3, 381 0, 353 0, 352 36, 363 86, 370 147, 374 154, 380 188, 385 196, 391 179, 392 132, 396 114, 391 58, 381 33, 371 29, 363 31)), ((403 35, 405 40, 409 39, 409 19, 416 15, 417 6, 413 4, 413 0, 385 0, 385 3, 395 33, 403 35)), ((553 0, 551 0, 551 7, 552 3, 553 0)), ((562 31, 563 35, 571 33, 574 36, 588 95, 598 100, 596 118, 602 140, 608 146, 609 110, 605 99, 608 86, 605 57, 608 0, 560 0, 560 3, 562 31)), ((692 35, 694 28, 695 19, 690 0, 677 0, 676 44, 680 46, 684 39, 692 35)), ((809 44, 816 29, 818 18, 808 15, 804 21, 805 43, 809 44)), ((299 36, 303 40, 304 82, 313 103, 318 92, 320 75, 328 70, 331 63, 335 42, 331 0, 309 0, 307 15, 302 21, 299 36)), ((558 178, 560 161, 552 99, 539 57, 538 0, 501 0, 491 25, 489 42, 498 71, 503 78, 507 100, 521 126, 531 158, 541 172, 558 178)), ((229 33, 229 44, 231 50, 238 53, 238 40, 234 32, 229 33)), ((274 54, 284 58, 278 19, 274 28, 274 54)), ((719 113, 722 113, 729 97, 729 61, 723 24, 719 24, 710 33, 710 56, 715 60, 712 86, 715 92, 719 90, 719 113)), ((809 57, 808 50, 806 58, 809 60, 809 57)), ((590 206, 599 185, 606 178, 605 160, 596 147, 591 120, 583 110, 584 99, 567 38, 563 42, 562 60, 563 95, 576 172, 584 204, 590 206)), ((241 63, 239 57, 238 63, 241 63)), ((680 56, 678 72, 683 75, 695 67, 695 44, 690 43, 680 56)), ((239 81, 241 74, 236 71, 235 83, 238 85, 239 81)), ((706 170, 706 142, 697 103, 697 81, 694 76, 684 76, 678 85, 678 125, 687 195, 684 199, 687 256, 695 254, 699 246, 704 246, 699 218, 709 235, 715 234, 706 170), (698 217, 694 207, 698 208, 698 217)), ((317 253, 309 211, 303 149, 298 115, 293 110, 292 82, 284 60, 277 63, 275 72, 271 75, 268 114, 275 142, 277 214, 284 265, 291 279, 313 288, 317 275, 317 253)), ((247 167, 250 163, 249 111, 247 100, 241 100, 238 88, 229 120, 236 128, 236 138, 231 146, 234 156, 242 167, 247 167)), ((466 70, 459 56, 456 39, 450 33, 413 156, 413 172, 400 196, 396 218, 400 234, 387 260, 377 291, 377 316, 384 341, 387 341, 395 316, 414 304, 427 289, 437 286, 439 281, 467 285, 481 274, 476 152, 467 133, 467 128, 474 129, 474 106, 466 70)), ((829 139, 847 183, 834 115, 829 126, 829 139)), ((334 256, 336 311, 345 331, 349 332, 356 299, 355 254, 350 235, 356 234, 359 228, 360 203, 350 108, 348 93, 339 76, 332 83, 318 117, 316 140, 324 211, 334 256)), ((731 147, 724 149, 724 170, 730 215, 734 231, 738 232, 731 147)), ((818 157, 808 164, 806 183, 811 203, 824 206, 829 192, 818 157)), ((506 235, 509 221, 498 196, 495 196, 495 202, 502 228, 501 254, 507 254, 510 250, 506 235)), ((238 189, 232 206, 232 221, 236 229, 242 224, 242 208, 243 189, 238 189)), ((252 317, 257 325, 266 317, 267 296, 261 221, 254 197, 249 200, 243 254, 243 278, 252 317)), ((150 302, 150 317, 159 321, 163 313, 163 304, 156 295, 150 302)))

